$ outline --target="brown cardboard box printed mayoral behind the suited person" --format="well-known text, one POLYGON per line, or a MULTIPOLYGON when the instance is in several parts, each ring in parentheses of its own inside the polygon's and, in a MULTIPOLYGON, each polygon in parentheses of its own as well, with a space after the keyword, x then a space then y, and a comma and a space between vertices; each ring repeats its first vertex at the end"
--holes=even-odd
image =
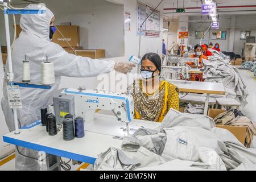
MULTIPOLYGON (((80 32, 79 26, 56 26, 61 34, 63 34, 64 38, 68 41, 71 47, 80 47, 80 32)), ((21 28, 19 25, 16 25, 16 36, 18 38, 21 28)), ((56 30, 55 34, 53 34, 52 42, 59 44, 61 47, 69 47, 67 41, 63 38, 58 30, 56 30)))

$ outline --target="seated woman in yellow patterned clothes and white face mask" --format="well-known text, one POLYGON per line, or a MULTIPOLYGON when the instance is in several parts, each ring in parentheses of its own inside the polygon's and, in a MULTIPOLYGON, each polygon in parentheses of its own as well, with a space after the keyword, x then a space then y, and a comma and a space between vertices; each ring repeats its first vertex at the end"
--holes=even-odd
POLYGON ((129 86, 134 99, 134 118, 162 122, 168 111, 179 110, 179 90, 160 79, 161 59, 156 53, 147 53, 141 61, 141 77, 129 86))

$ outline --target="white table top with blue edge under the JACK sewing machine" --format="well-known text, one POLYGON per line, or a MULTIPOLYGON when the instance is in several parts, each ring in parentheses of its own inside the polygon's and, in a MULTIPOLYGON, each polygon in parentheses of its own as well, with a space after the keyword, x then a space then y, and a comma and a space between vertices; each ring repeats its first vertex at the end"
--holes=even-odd
MULTIPOLYGON (((46 127, 40 124, 29 129, 20 129, 18 135, 14 132, 6 134, 3 140, 33 150, 45 151, 47 154, 94 164, 97 155, 101 152, 105 152, 109 147, 121 147, 122 140, 113 137, 121 137, 124 133, 120 128, 126 127, 125 123, 118 122, 112 115, 96 114, 94 121, 95 125, 85 125, 84 138, 75 138, 71 141, 63 140, 62 130, 55 136, 49 136, 46 127)), ((155 129, 160 123, 134 119, 129 125, 130 129, 138 129, 141 126, 155 129)))

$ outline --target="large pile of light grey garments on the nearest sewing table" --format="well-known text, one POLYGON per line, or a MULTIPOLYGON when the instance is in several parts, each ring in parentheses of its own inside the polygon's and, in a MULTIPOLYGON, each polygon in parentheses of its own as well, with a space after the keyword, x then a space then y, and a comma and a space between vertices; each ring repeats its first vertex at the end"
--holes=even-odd
POLYGON ((138 129, 123 138, 122 150, 110 147, 98 155, 94 170, 256 169, 256 150, 212 122, 171 109, 160 132, 138 129))

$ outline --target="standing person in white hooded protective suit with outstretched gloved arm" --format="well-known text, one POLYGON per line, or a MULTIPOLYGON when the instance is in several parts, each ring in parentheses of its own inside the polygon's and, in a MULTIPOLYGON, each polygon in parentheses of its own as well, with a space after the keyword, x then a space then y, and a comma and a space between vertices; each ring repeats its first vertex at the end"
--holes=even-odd
MULTIPOLYGON (((58 44, 50 42, 50 25, 53 24, 54 15, 51 10, 46 9, 46 14, 21 15, 20 27, 22 32, 15 40, 13 47, 13 72, 14 79, 22 80, 22 61, 24 55, 30 61, 31 82, 40 83, 40 67, 43 60, 54 63, 55 84, 51 89, 20 88, 22 97, 22 109, 18 109, 18 121, 20 127, 40 120, 40 108, 52 104, 52 96, 59 88, 60 77, 93 77, 100 73, 108 73, 115 69, 122 73, 128 73, 134 65, 130 63, 114 63, 114 61, 92 60, 88 57, 81 57, 67 53, 58 44)), ((25 9, 42 9, 42 5, 29 5, 25 9), (41 6, 41 7, 40 7, 41 6)), ((6 64, 7 65, 7 64, 6 64)), ((7 73, 8 67, 6 67, 7 73)), ((5 73, 5 76, 6 76, 5 73)), ((7 82, 3 86, 3 99, 1 101, 6 123, 10 131, 14 131, 13 111, 9 107, 7 97, 7 82)), ((40 166, 37 152, 19 147, 16 151, 17 170, 38 170, 40 166), (22 155, 20 155, 20 153, 22 155), (32 158, 26 158, 32 156, 32 158)))

